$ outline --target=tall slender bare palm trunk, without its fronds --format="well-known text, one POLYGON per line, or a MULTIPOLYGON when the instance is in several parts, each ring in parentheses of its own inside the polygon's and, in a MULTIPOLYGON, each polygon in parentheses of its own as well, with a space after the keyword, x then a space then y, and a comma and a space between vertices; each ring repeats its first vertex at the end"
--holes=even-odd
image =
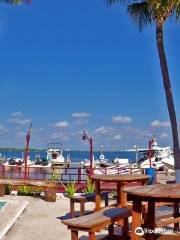
MULTIPOLYGON (((173 136, 173 151, 174 151, 174 164, 176 173, 180 173, 180 148, 179 148, 179 139, 178 139, 178 128, 176 120, 176 112, 174 108, 174 101, 171 90, 171 82, 169 79, 168 66, 166 61, 166 54, 164 49, 164 40, 163 40, 163 22, 156 22, 156 41, 157 48, 159 53, 163 84, 166 93, 166 102, 168 106, 169 117, 171 121, 171 129, 173 136)), ((180 175, 176 174, 176 181, 180 182, 180 175)))

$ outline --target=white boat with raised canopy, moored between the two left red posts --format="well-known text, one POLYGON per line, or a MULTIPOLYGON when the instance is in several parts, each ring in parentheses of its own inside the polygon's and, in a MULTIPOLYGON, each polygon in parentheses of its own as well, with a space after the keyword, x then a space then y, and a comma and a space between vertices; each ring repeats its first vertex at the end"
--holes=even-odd
POLYGON ((64 165, 65 158, 60 143, 50 143, 47 150, 47 160, 51 165, 64 165), (58 147, 59 145, 59 147, 58 147))

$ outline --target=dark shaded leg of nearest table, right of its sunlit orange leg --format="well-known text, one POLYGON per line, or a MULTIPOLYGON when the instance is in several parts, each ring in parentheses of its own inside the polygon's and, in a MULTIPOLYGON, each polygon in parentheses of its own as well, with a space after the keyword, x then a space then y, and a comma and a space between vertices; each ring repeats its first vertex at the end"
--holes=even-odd
POLYGON ((154 238, 154 229, 155 229, 155 201, 148 201, 148 213, 147 213, 147 222, 145 223, 145 228, 147 228, 147 240, 153 240, 154 238))

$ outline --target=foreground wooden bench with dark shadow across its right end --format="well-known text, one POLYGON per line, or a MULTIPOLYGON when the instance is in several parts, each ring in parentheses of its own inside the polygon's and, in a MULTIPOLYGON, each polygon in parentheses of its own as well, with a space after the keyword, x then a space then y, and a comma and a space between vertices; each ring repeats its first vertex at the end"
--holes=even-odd
POLYGON ((131 210, 128 208, 106 207, 92 214, 63 220, 62 222, 71 230, 71 240, 78 240, 79 231, 88 232, 88 240, 96 240, 95 232, 102 230, 104 227, 108 227, 108 239, 113 239, 114 223, 123 219, 121 239, 127 240, 129 236, 128 217, 130 216, 131 210))

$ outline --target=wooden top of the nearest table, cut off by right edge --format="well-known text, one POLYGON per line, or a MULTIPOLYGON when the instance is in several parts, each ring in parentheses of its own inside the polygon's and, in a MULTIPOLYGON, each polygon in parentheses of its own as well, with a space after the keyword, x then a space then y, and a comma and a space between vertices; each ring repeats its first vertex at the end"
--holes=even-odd
POLYGON ((137 187, 126 187, 124 192, 139 198, 180 200, 180 184, 154 184, 137 187))

